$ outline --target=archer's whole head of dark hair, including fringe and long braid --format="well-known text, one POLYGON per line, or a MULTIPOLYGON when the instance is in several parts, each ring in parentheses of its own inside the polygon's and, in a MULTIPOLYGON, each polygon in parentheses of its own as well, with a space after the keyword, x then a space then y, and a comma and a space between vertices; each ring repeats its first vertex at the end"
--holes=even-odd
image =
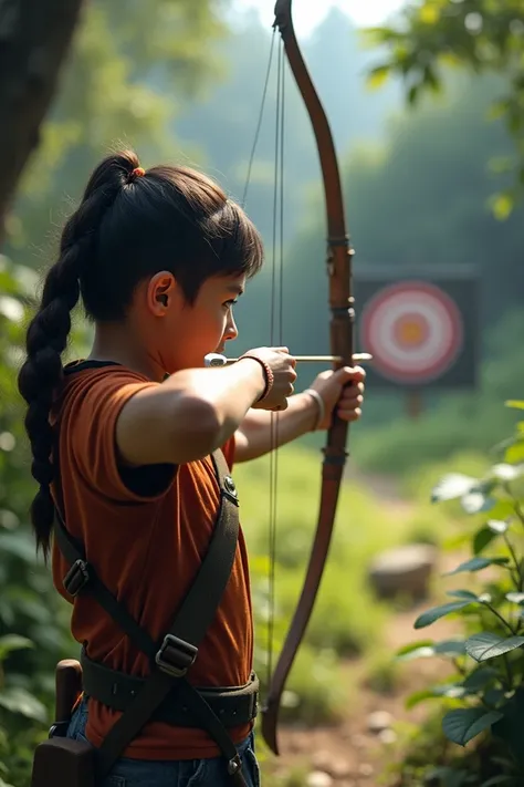
POLYGON ((50 414, 63 380, 62 353, 80 298, 92 322, 123 320, 137 284, 174 273, 188 303, 212 276, 253 276, 262 241, 242 209, 210 178, 188 167, 139 167, 136 154, 107 156, 67 220, 59 259, 45 278, 27 332, 19 391, 39 490, 31 505, 36 548, 49 557, 54 520, 54 432, 50 414))

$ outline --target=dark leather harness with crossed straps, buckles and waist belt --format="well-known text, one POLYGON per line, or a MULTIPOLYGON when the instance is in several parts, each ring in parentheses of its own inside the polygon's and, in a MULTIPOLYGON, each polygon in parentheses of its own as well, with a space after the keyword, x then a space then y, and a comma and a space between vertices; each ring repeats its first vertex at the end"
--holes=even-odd
POLYGON ((64 578, 65 590, 73 597, 90 593, 134 645, 149 657, 150 663, 150 674, 137 679, 95 663, 85 653, 82 655, 86 693, 124 712, 97 749, 97 775, 101 779, 109 773, 144 725, 155 718, 176 725, 203 727, 226 757, 232 783, 245 787, 240 757, 227 726, 235 726, 256 716, 256 676, 252 675, 245 686, 211 691, 192 686, 186 677, 228 584, 239 536, 239 500, 234 483, 222 452, 217 451, 211 456, 220 486, 217 521, 197 578, 161 642, 155 642, 103 584, 86 560, 83 546, 67 532, 56 507, 56 543, 71 563, 64 578))

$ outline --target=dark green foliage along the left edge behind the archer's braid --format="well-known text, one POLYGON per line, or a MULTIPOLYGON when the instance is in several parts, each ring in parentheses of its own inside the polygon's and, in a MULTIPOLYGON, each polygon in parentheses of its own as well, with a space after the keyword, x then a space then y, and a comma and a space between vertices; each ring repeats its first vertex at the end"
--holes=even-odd
MULTIPOLYGON (((34 273, 0 257, 0 779, 25 787, 54 704, 54 667, 74 652, 67 609, 36 558, 28 525, 34 494, 15 392, 34 273)), ((1 784, 1 780, 0 780, 1 784)))

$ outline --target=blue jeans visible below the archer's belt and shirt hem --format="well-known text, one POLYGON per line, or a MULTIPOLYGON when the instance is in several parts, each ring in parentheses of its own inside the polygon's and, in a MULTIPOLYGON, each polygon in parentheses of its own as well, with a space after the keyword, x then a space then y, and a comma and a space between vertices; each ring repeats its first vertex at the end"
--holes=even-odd
MULTIPOLYGON (((87 703, 84 700, 73 714, 67 737, 87 741, 87 703)), ((242 758, 242 773, 249 787, 260 787, 260 770, 254 754, 253 733, 237 749, 242 758)), ((210 759, 148 760, 122 757, 101 787, 231 787, 223 757, 210 759)))

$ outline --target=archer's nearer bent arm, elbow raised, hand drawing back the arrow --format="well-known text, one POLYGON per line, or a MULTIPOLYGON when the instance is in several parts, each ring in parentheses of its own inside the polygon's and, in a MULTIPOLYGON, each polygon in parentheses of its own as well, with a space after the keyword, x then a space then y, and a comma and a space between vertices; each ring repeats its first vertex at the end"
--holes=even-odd
MULTIPOLYGON (((287 349, 252 351, 274 376, 258 406, 287 406, 296 379, 287 349)), ((129 466, 181 465, 201 459, 235 433, 266 387, 264 366, 247 358, 221 369, 188 369, 148 386, 123 406, 116 422, 120 460, 129 466)))

